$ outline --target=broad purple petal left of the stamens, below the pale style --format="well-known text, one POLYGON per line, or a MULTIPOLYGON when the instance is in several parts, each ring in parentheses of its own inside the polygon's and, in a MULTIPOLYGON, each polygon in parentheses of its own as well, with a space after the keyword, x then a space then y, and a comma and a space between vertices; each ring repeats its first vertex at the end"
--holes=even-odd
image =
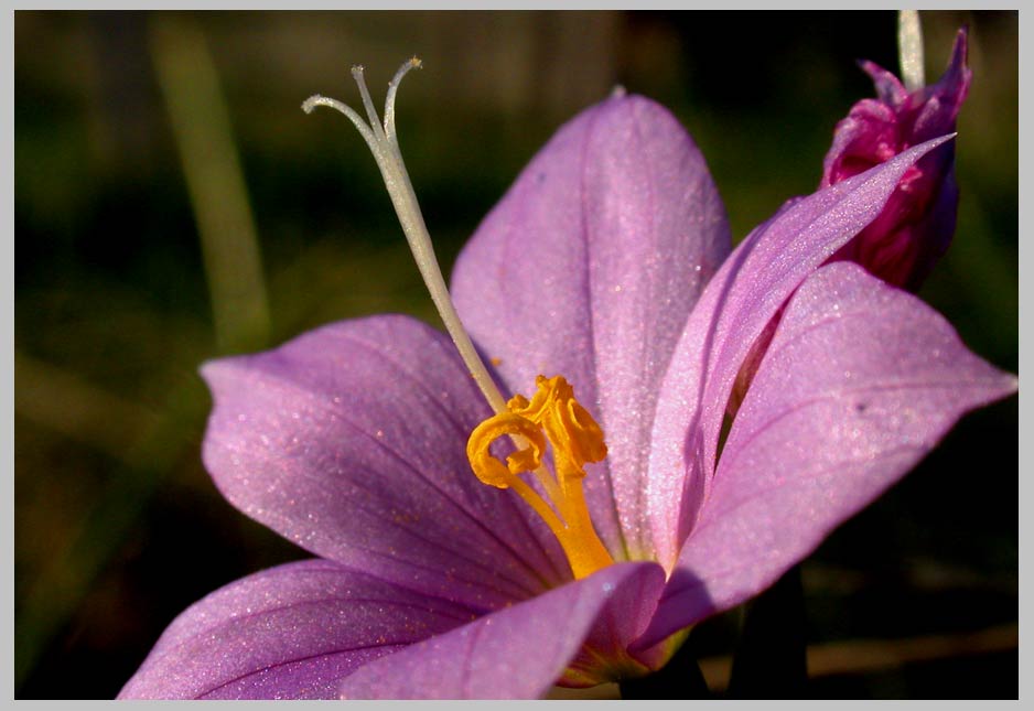
POLYGON ((216 485, 306 550, 482 610, 570 578, 545 525, 471 471, 466 440, 488 407, 430 326, 333 324, 204 376, 216 485))

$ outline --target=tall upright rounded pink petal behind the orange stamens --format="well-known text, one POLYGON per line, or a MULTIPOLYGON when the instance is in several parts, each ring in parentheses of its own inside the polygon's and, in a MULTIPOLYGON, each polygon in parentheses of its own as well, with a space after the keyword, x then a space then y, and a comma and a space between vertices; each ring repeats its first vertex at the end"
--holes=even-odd
POLYGON ((648 541, 658 386, 729 244, 690 137, 661 106, 628 96, 563 126, 456 262, 456 306, 506 384, 530 395, 536 375, 563 375, 603 427, 610 454, 585 486, 614 553, 648 541))

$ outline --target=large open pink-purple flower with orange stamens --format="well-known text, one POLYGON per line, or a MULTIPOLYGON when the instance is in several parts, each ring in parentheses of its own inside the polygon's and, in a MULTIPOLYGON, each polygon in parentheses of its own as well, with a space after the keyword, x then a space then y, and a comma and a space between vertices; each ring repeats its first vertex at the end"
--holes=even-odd
MULTIPOLYGON (((385 114, 368 140, 398 185, 385 114)), ((614 96, 558 131, 453 273, 493 376, 529 399, 489 407, 449 337, 401 315, 207 364, 216 485, 319 558, 190 607, 121 697, 537 697, 663 666, 688 626, 765 589, 965 411, 1015 390, 916 298, 822 266, 941 144, 796 202, 730 252, 689 136, 614 96), (508 434, 504 465, 489 443, 508 434), (515 471, 541 467, 558 478, 523 486, 552 499, 561 537, 586 516, 573 542, 517 491, 515 471)))

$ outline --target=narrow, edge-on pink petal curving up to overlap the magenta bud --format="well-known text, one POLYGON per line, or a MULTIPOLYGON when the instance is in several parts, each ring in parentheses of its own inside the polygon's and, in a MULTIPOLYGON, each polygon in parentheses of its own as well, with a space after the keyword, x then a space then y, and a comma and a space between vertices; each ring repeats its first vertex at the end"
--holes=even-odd
POLYGON ((656 556, 666 567, 706 496, 729 394, 754 341, 794 289, 880 214, 904 172, 945 140, 791 201, 708 284, 657 403, 647 485, 656 556))

